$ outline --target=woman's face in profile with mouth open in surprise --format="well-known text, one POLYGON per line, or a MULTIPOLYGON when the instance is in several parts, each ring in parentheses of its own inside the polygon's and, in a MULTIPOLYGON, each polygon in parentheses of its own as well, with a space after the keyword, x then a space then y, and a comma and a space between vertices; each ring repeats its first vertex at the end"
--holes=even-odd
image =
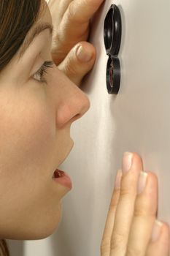
MULTIPOLYGON (((47 5, 40 21, 52 24, 47 5)), ((49 30, 42 31, 0 74, 0 238, 50 236, 70 190, 52 177, 73 147, 72 122, 90 102, 55 64, 47 70, 47 83, 34 75, 52 61, 51 43, 49 30)))

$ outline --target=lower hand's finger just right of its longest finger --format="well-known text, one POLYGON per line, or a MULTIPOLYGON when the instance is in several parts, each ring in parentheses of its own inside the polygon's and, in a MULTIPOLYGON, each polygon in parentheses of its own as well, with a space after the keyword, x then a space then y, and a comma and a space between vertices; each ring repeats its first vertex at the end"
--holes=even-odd
POLYGON ((137 195, 134 205, 134 217, 128 238, 127 256, 145 256, 158 206, 158 181, 156 176, 149 172, 141 173, 139 187, 140 194, 137 195))

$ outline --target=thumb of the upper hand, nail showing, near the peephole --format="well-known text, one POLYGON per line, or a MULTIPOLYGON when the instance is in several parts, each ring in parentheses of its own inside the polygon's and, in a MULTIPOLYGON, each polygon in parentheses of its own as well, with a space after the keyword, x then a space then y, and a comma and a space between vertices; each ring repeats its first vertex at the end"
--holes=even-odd
POLYGON ((82 78, 93 68, 96 60, 96 49, 89 42, 79 42, 69 51, 58 69, 80 86, 82 78))

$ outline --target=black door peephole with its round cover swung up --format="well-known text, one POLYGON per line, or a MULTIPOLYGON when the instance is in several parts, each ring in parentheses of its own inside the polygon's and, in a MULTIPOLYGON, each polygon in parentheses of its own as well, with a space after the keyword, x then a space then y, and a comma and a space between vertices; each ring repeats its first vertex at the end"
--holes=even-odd
POLYGON ((118 94, 120 89, 120 50, 122 21, 119 8, 112 4, 104 20, 104 45, 109 59, 107 61, 107 91, 118 94))

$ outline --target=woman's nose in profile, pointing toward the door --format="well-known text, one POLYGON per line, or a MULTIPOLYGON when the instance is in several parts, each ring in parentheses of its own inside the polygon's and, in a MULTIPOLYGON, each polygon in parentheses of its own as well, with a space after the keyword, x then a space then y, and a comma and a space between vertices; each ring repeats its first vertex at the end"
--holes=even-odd
POLYGON ((90 100, 69 78, 62 75, 56 106, 56 126, 61 128, 82 117, 90 108, 90 100))

